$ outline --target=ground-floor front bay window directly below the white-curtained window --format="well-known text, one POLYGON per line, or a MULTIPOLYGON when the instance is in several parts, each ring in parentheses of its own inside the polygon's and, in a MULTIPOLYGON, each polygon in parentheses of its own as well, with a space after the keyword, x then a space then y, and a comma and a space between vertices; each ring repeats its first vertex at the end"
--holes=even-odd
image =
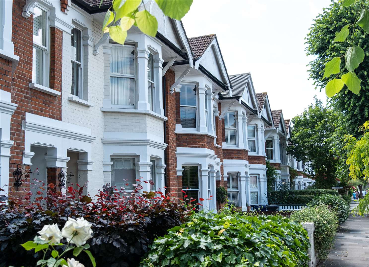
POLYGON ((136 183, 135 158, 111 158, 111 186, 117 189, 123 187, 125 191, 133 191, 136 183), (126 185, 128 184, 128 185, 126 185))

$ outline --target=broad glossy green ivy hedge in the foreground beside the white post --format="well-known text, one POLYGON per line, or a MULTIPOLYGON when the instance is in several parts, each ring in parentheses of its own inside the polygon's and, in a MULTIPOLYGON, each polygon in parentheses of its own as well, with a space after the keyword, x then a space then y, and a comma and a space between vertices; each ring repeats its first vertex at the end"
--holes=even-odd
POLYGON ((201 213, 155 239, 141 266, 308 266, 300 224, 280 216, 201 213))

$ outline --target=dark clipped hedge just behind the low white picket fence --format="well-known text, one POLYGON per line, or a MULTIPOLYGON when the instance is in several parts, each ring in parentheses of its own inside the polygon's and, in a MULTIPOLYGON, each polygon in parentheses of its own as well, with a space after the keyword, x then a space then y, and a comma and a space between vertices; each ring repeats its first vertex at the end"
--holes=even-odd
MULTIPOLYGON (((301 195, 311 195, 311 196, 320 196, 320 195, 335 195, 338 196, 337 190, 334 189, 303 189, 303 190, 289 190, 286 186, 282 186, 279 190, 268 192, 268 203, 269 204, 306 204, 296 202, 296 196, 301 195)), ((310 201, 310 200, 309 200, 310 201)))

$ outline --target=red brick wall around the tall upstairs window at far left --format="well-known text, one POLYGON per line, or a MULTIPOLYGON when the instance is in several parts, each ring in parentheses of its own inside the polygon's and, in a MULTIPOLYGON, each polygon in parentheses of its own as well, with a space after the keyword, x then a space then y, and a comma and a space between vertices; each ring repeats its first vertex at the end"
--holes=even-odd
MULTIPOLYGON (((6 84, 1 82, 2 88, 11 92, 12 102, 18 105, 11 117, 11 140, 14 141, 14 145, 10 150, 10 178, 13 178, 12 173, 16 164, 22 164, 24 151, 24 131, 22 130, 22 121, 25 120, 25 113, 33 113, 61 120, 61 96, 52 96, 29 87, 29 84, 32 82, 33 16, 30 18, 22 17, 22 11, 25 4, 26 0, 13 1, 12 41, 14 43, 14 54, 19 56, 20 61, 15 69, 10 90, 10 78, 5 79, 5 82, 7 82, 6 84)), ((50 32, 50 86, 52 89, 61 92, 62 31, 51 28, 50 32)), ((1 63, 3 63, 3 61, 1 61, 1 63)), ((9 68, 6 67, 5 69, 7 74, 9 74, 9 68)), ((14 182, 12 181, 13 179, 10 179, 10 187, 14 185, 14 182)))

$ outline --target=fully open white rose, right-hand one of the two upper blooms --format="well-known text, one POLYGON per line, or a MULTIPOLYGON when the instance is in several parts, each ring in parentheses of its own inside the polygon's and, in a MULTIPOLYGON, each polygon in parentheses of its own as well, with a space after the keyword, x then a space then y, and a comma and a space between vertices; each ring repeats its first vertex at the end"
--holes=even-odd
POLYGON ((77 220, 68 218, 62 229, 62 236, 67 239, 68 242, 82 246, 86 244, 86 241, 92 237, 92 224, 85 220, 85 218, 77 218, 77 220))

